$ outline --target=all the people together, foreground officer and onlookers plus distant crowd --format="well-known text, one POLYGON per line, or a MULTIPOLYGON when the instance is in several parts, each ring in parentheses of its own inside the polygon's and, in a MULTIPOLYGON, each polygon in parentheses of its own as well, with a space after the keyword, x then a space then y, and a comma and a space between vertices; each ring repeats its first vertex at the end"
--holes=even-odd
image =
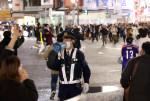
MULTIPOLYGON (((80 51, 80 40, 102 40, 104 46, 108 42, 117 44, 122 38, 124 45, 121 51, 121 85, 125 91, 130 86, 129 101, 149 101, 149 23, 67 25, 65 29, 61 23, 55 28, 49 24, 42 26, 38 23, 34 34, 36 43, 32 48, 39 48, 38 53, 43 54, 44 49, 48 47, 43 57, 47 67, 51 69, 51 100, 54 100, 58 77, 60 101, 87 93, 89 90, 91 71, 84 53, 80 51), (66 48, 59 53, 55 52, 53 39, 66 43, 66 48)), ((37 101, 35 84, 28 78, 17 56, 17 48, 24 42, 23 30, 14 25, 13 34, 11 31, 5 31, 3 36, 4 39, 0 42, 0 101, 37 101), (10 96, 6 97, 7 95, 10 96)), ((128 101, 126 93, 124 101, 128 101)))

